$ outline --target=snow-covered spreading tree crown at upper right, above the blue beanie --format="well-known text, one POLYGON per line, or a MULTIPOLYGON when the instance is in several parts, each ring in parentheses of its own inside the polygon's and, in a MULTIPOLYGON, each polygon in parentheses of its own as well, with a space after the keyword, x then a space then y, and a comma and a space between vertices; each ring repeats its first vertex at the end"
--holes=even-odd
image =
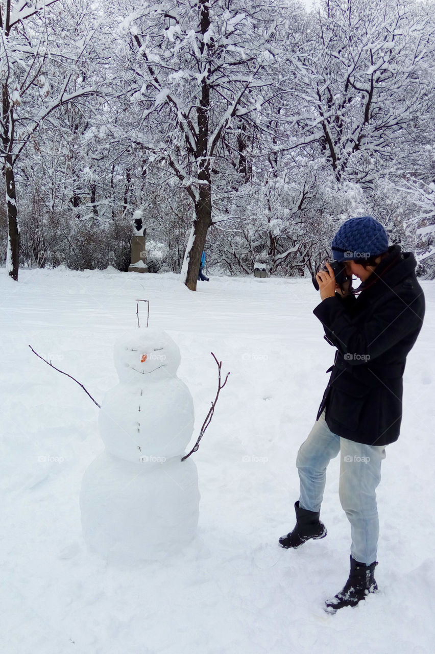
POLYGON ((430 42, 419 3, 322 0, 300 51, 289 146, 315 144, 337 181, 370 187, 433 103, 430 42))

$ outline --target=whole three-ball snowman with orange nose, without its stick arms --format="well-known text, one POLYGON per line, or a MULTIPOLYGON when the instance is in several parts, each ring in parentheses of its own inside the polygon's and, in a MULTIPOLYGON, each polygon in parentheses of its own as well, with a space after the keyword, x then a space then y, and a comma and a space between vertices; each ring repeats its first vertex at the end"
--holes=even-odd
POLYGON ((106 449, 80 490, 84 538, 108 560, 162 559, 189 543, 198 523, 197 468, 191 458, 182 461, 193 400, 166 332, 128 332, 116 341, 114 360, 120 383, 99 414, 106 449))

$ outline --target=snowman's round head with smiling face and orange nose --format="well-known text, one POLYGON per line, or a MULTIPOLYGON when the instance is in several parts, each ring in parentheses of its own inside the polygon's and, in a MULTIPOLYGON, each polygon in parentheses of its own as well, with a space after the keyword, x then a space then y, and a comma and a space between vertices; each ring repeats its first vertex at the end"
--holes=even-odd
POLYGON ((124 383, 144 383, 175 377, 181 356, 178 345, 163 330, 140 328, 125 332, 115 343, 115 367, 124 383))

